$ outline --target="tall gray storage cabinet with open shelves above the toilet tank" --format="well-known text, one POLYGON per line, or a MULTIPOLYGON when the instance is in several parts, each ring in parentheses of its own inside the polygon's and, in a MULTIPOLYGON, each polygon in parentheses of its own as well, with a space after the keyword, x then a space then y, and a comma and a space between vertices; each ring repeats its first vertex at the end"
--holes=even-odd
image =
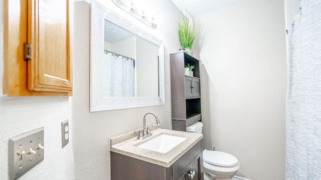
POLYGON ((186 131, 186 126, 201 121, 200 61, 180 51, 171 56, 171 93, 173 130, 186 131), (193 75, 185 75, 185 65, 195 65, 193 75))

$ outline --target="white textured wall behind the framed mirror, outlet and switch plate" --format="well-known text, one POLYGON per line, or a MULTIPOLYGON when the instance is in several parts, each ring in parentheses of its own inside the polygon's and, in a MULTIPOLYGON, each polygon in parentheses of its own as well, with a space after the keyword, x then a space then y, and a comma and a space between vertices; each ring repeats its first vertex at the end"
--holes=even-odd
MULTIPOLYGON (((141 127, 147 111, 158 115, 163 128, 172 127, 169 54, 181 47, 177 37, 177 22, 181 19, 179 9, 170 0, 143 0, 155 9, 156 14, 164 16, 164 22, 157 29, 151 29, 120 10, 111 0, 101 0, 108 8, 165 42, 166 96, 165 105, 89 112, 89 2, 73 3, 73 96, 0 98, 0 179, 8 179, 9 138, 41 126, 45 128, 45 159, 21 179, 110 179, 109 137, 141 127), (70 140, 61 148, 60 123, 66 119, 69 119, 70 140)), ((3 28, 2 18, 0 22, 0 28, 3 28)), ((0 44, 3 45, 2 40, 0 44)), ((3 55, 0 61, 3 61, 3 55)), ((147 123, 154 123, 152 116, 147 117, 147 123)))

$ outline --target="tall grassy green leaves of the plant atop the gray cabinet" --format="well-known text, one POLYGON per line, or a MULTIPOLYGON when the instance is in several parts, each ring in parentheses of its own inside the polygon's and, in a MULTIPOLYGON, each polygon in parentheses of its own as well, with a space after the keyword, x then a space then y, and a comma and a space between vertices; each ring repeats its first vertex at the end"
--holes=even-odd
POLYGON ((178 35, 183 48, 191 48, 196 37, 196 30, 189 24, 189 18, 184 15, 181 9, 183 21, 179 22, 178 35))

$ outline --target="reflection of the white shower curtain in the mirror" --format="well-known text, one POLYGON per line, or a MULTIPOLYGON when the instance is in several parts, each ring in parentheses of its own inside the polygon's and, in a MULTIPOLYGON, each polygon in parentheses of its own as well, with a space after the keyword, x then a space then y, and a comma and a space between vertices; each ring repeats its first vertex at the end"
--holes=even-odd
POLYGON ((134 60, 104 53, 104 96, 134 97, 134 60))

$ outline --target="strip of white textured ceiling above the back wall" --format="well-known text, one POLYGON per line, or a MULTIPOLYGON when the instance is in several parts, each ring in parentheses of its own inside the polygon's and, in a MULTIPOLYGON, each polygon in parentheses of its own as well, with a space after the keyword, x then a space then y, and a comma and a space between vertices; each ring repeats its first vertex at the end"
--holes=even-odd
POLYGON ((215 10, 225 8, 247 0, 172 0, 172 1, 177 7, 181 8, 183 12, 186 9, 193 17, 196 17, 199 15, 213 12, 215 10))

